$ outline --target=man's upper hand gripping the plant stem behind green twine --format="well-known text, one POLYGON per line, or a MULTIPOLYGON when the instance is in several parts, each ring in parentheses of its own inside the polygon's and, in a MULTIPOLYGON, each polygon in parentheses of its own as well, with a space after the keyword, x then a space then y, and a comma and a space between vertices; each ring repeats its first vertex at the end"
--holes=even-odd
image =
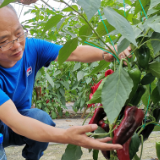
MULTIPOLYGON (((114 50, 114 48, 111 46, 110 47, 112 50, 114 50)), ((117 46, 115 45, 115 49, 117 50, 117 46)), ((120 59, 122 59, 122 58, 126 58, 126 57, 128 57, 128 58, 131 58, 132 57, 132 55, 130 55, 131 53, 130 53, 130 51, 131 51, 131 47, 129 46, 127 49, 125 49, 123 52, 121 52, 120 54, 119 54, 119 58, 120 59)), ((113 60, 114 60, 114 57, 113 57, 113 55, 111 55, 111 54, 109 54, 109 53, 104 53, 104 59, 107 61, 107 62, 112 62, 113 60)), ((126 62, 124 62, 124 64, 126 64, 126 62)))

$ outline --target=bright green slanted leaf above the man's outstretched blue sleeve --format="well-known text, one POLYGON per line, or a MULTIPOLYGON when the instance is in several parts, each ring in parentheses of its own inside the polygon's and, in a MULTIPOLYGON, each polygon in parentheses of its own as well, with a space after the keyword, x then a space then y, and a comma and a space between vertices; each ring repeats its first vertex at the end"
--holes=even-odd
POLYGON ((55 16, 52 16, 48 21, 47 23, 45 24, 45 28, 43 30, 43 33, 44 34, 46 31, 48 31, 49 29, 51 29, 52 27, 56 26, 57 23, 61 20, 63 16, 60 15, 60 14, 56 14, 55 16))

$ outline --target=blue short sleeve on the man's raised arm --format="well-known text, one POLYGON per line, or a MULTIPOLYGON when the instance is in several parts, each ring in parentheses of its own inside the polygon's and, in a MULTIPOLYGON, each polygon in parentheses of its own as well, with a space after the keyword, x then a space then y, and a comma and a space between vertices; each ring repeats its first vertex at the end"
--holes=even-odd
POLYGON ((51 61, 54 61, 57 58, 59 50, 62 48, 61 45, 34 38, 32 45, 36 47, 37 69, 40 69, 43 66, 48 67, 51 61))

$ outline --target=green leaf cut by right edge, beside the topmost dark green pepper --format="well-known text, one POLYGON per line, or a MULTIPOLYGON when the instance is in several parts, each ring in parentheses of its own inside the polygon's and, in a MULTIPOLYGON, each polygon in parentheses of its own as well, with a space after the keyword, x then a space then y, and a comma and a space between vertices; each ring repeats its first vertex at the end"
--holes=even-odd
POLYGON ((160 63, 157 61, 150 63, 149 71, 152 73, 153 76, 160 78, 160 63))

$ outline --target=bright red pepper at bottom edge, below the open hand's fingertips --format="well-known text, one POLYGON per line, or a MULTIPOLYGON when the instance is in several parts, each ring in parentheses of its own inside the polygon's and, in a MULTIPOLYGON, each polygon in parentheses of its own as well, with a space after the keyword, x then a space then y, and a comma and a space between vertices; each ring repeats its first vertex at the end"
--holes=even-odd
POLYGON ((130 155, 129 155, 130 142, 131 138, 129 138, 128 141, 123 144, 123 149, 117 150, 117 156, 119 160, 130 160, 130 155))

